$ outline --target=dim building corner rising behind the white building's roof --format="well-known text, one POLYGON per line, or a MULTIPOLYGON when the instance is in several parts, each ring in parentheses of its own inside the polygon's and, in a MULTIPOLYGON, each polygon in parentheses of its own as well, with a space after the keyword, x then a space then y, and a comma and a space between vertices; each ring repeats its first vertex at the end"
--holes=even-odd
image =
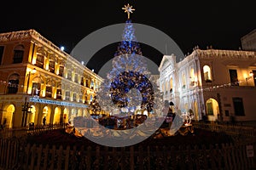
POLYGON ((256 51, 256 29, 241 37, 241 48, 248 51, 256 51))

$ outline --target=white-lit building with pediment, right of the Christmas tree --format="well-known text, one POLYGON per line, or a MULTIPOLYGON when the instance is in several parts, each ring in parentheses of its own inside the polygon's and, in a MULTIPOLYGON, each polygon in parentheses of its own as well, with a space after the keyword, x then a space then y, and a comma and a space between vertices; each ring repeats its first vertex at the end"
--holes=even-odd
POLYGON ((256 53, 195 49, 180 62, 165 55, 160 63, 160 90, 164 99, 195 120, 256 120, 256 53))

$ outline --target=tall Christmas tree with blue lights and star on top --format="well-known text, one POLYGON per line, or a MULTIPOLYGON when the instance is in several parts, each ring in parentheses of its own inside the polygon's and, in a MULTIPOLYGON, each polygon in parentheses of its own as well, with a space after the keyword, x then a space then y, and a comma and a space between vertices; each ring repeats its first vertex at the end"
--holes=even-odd
POLYGON ((134 114, 136 110, 154 113, 154 100, 157 97, 161 101, 162 98, 155 95, 157 88, 150 81, 151 75, 130 20, 132 8, 128 4, 124 9, 128 20, 125 22, 122 41, 114 54, 113 69, 96 95, 104 111, 113 112, 113 107, 118 107, 117 112, 120 113, 134 114), (112 105, 109 101, 112 101, 112 105))

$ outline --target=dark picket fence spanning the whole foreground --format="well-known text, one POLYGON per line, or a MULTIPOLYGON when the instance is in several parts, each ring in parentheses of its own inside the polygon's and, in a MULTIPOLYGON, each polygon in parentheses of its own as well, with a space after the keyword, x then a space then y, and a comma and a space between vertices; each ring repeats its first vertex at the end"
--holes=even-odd
POLYGON ((133 145, 123 148, 81 148, 20 145, 0 139, 0 167, 4 169, 253 169, 256 144, 180 146, 133 145), (250 147, 247 147, 250 146, 250 147), (248 148, 250 150, 248 150, 248 148), (253 148, 253 149, 252 149, 253 148), (249 152, 248 152, 249 151, 249 152))

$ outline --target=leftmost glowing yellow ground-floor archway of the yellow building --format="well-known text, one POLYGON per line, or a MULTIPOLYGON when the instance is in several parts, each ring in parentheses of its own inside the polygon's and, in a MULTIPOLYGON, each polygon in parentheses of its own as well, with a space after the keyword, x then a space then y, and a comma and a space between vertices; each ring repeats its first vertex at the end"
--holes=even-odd
POLYGON ((3 110, 3 116, 1 124, 3 127, 11 128, 13 127, 13 116, 15 112, 15 105, 7 105, 3 110))

